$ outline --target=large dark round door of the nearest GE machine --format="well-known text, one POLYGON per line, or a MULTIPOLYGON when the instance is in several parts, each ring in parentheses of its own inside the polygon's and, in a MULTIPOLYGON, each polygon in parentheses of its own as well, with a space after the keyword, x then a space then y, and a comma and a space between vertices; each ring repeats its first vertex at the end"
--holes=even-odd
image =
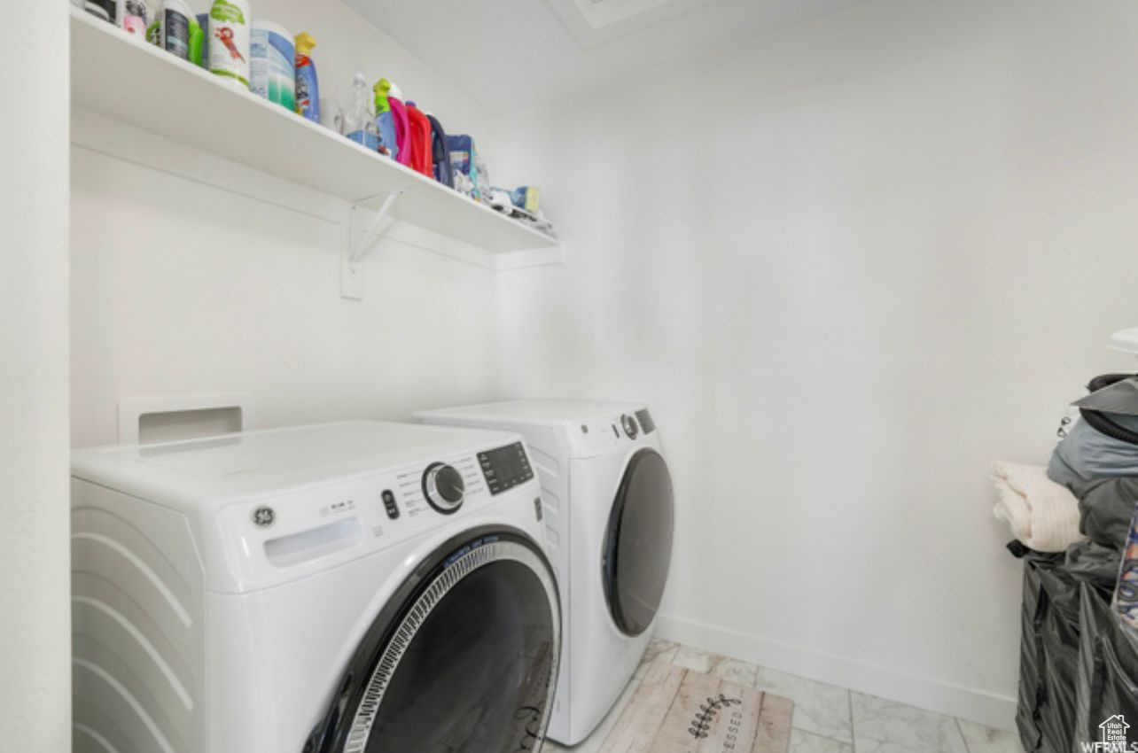
POLYGON ((305 751, 537 750, 556 685, 559 605, 528 537, 452 539, 376 619, 305 751))

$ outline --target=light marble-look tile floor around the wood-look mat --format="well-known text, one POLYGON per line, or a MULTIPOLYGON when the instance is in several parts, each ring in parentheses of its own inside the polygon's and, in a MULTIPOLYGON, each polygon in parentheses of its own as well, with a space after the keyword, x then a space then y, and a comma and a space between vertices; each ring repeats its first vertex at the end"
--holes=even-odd
POLYGON ((653 640, 633 681, 593 735, 574 748, 596 753, 643 677, 660 659, 724 679, 752 685, 794 702, 790 753, 1023 753, 1014 733, 885 701, 805 677, 756 667, 667 640, 653 640))

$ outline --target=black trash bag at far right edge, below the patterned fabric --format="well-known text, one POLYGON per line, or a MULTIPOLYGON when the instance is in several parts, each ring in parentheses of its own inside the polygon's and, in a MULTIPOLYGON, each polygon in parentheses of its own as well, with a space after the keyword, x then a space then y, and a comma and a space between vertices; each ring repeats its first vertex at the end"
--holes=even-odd
MULTIPOLYGON (((1089 584, 1080 591, 1077 746, 1100 742, 1099 727, 1112 717, 1138 719, 1138 635, 1111 607, 1110 591, 1089 584)), ((1129 743, 1138 743, 1138 729, 1129 743)))

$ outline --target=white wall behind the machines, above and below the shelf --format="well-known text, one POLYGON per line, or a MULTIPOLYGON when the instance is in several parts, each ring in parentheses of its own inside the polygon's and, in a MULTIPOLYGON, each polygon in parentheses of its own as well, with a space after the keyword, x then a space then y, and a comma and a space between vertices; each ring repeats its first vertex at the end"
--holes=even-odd
MULTIPOLYGON (((455 130, 485 127, 476 102, 341 3, 255 10, 316 38, 325 96, 346 101, 362 63, 455 130)), ((251 392, 265 427, 493 396, 493 273, 386 243, 365 263, 364 300, 341 299, 345 202, 76 118, 75 446, 116 441, 124 397, 251 392), (123 138, 125 155, 106 147, 123 138)))

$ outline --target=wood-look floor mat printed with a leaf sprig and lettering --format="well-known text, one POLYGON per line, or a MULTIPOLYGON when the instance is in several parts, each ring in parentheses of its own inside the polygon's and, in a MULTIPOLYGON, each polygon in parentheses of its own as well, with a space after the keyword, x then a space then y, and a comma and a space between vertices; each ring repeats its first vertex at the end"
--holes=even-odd
POLYGON ((653 663, 601 753, 786 753, 794 703, 653 663))

